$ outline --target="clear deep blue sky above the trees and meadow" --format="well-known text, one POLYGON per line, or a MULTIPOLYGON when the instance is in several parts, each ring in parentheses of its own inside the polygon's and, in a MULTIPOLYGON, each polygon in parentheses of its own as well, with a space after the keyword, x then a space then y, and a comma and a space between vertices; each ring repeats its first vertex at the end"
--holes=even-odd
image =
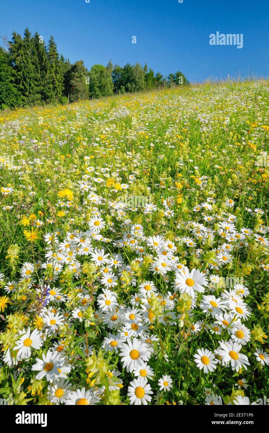
POLYGON ((248 72, 269 75, 269 0, 0 0, 0 36, 26 26, 71 63, 147 61, 190 81, 248 72), (243 33, 243 48, 209 45, 209 34, 243 33), (136 44, 132 44, 136 36, 136 44))

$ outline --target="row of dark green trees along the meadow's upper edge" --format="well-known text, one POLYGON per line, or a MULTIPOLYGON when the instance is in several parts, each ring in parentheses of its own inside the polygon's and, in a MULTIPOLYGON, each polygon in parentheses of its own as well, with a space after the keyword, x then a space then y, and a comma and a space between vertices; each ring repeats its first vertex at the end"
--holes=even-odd
POLYGON ((141 92, 158 87, 189 84, 181 71, 164 77, 147 64, 93 65, 83 60, 70 64, 59 55, 53 36, 43 37, 28 28, 22 37, 13 32, 7 49, 0 47, 0 109, 57 104, 100 98, 113 94, 141 92))

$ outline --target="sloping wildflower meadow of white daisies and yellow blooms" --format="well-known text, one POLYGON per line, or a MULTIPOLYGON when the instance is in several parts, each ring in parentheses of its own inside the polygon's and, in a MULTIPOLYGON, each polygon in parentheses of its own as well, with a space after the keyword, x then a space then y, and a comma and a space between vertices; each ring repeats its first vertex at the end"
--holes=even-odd
POLYGON ((267 404, 268 146, 262 79, 2 112, 1 398, 267 404))

